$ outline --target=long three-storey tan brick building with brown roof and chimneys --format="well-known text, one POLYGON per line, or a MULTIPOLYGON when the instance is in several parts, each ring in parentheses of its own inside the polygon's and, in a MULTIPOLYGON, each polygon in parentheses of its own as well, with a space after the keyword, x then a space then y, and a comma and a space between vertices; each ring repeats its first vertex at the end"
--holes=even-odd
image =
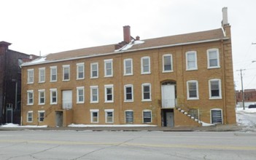
POLYGON ((49 54, 23 65, 23 125, 235 124, 230 25, 49 54))

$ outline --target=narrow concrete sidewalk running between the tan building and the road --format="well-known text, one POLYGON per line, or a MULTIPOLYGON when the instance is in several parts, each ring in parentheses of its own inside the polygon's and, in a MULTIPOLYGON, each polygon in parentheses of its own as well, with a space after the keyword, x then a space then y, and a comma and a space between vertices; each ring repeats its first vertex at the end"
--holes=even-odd
POLYGON ((10 130, 234 132, 241 131, 242 127, 237 125, 217 125, 211 127, 0 127, 0 131, 10 130))

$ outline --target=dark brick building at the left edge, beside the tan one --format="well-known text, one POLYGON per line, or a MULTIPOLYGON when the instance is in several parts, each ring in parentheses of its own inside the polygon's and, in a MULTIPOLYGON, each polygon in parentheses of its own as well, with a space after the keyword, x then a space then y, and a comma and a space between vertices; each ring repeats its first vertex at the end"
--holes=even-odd
POLYGON ((0 124, 20 124, 20 65, 35 56, 13 51, 9 45, 0 41, 0 124))

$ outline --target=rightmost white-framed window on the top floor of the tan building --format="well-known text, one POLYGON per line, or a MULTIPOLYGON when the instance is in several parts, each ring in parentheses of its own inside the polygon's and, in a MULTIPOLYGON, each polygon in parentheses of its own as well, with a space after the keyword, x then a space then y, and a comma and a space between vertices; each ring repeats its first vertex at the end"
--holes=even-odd
POLYGON ((220 68, 219 49, 207 50, 208 68, 220 68))

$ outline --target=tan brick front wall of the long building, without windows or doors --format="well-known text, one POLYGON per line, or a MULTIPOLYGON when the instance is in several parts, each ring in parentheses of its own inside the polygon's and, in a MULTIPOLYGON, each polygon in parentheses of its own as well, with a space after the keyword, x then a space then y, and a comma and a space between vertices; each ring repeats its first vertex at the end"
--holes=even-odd
MULTIPOLYGON (((233 92, 233 68, 230 41, 209 42, 203 44, 191 44, 179 47, 166 47, 161 49, 149 49, 144 51, 126 52, 116 55, 104 55, 79 60, 68 60, 58 63, 47 63, 42 65, 31 65, 23 67, 23 125, 47 124, 55 126, 55 111, 61 111, 61 91, 72 90, 73 108, 66 125, 92 124, 90 122, 90 110, 99 110, 97 124, 105 123, 105 109, 114 109, 114 123, 125 124, 125 111, 133 110, 133 124, 142 124, 142 111, 152 111, 152 123, 161 126, 161 82, 176 81, 177 101, 185 108, 196 108, 199 110, 201 121, 211 123, 210 111, 213 108, 222 110, 224 124, 236 123, 234 114, 235 101, 233 92), (207 68, 207 49, 219 49, 220 68, 207 68), (186 71, 185 52, 196 51, 198 70, 186 71), (163 73, 163 55, 171 54, 173 58, 174 71, 163 73), (141 57, 149 56, 151 73, 141 74, 141 57), (133 59, 133 76, 123 76, 123 60, 133 59), (104 60, 113 60, 113 77, 104 77, 104 60), (90 63, 98 62, 98 79, 90 79, 90 63), (77 63, 85 63, 85 79, 76 80, 77 63), (58 67, 58 81, 50 82, 50 66, 58 67), (62 81, 62 65, 70 65, 70 81, 62 81), (38 83, 39 68, 46 68, 46 81, 38 83), (27 70, 34 69, 34 84, 27 84, 27 70), (222 99, 209 99, 209 79, 221 79, 222 99), (187 81, 198 81, 198 100, 187 100, 187 81), (232 81, 231 81, 232 80, 232 81), (150 83, 152 89, 152 101, 141 102, 141 84, 150 83), (104 103, 104 85, 113 84, 114 103, 104 103), (124 85, 133 84, 133 102, 124 102, 124 85), (90 86, 98 86, 98 103, 90 103, 90 86), (85 103, 77 104, 77 87, 85 87, 85 103), (50 89, 58 89, 58 104, 50 105, 50 89), (45 105, 38 105, 38 90, 45 89, 45 105), (27 90, 34 90, 34 105, 27 105, 27 90), (34 121, 27 122, 28 111, 33 111, 34 121), (37 111, 45 111, 43 122, 37 121, 37 111), (70 118, 71 117, 71 118, 70 118)), ((175 126, 187 126, 187 117, 174 112, 175 126)), ((193 123, 191 123, 193 125, 193 123)))

